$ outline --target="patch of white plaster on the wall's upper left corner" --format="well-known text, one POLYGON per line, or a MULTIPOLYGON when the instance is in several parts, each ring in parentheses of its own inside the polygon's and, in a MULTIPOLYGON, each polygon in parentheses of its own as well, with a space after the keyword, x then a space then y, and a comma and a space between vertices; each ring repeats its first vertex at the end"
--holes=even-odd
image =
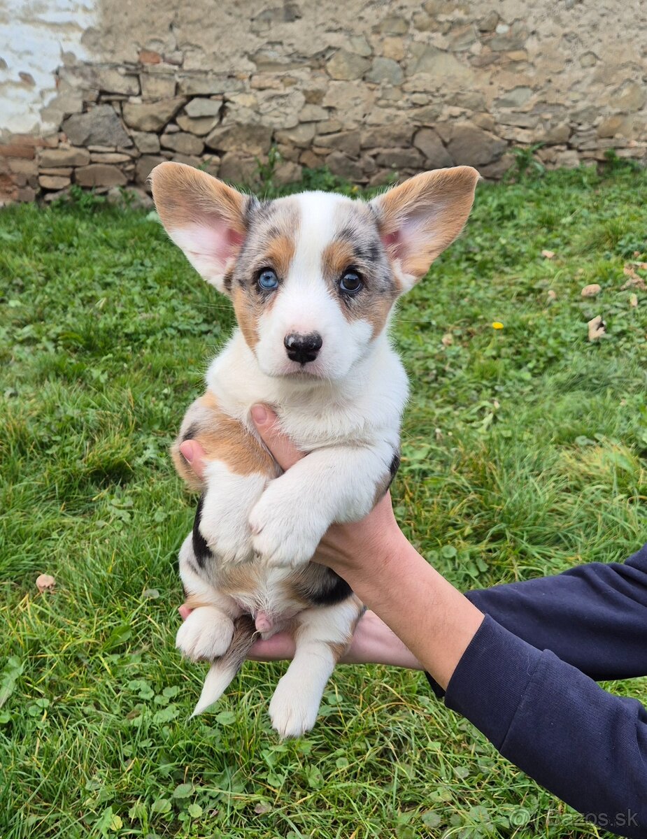
POLYGON ((95 23, 96 7, 97 0, 0 0, 0 131, 58 128, 41 111, 56 96, 63 54, 87 59, 81 36, 95 23))

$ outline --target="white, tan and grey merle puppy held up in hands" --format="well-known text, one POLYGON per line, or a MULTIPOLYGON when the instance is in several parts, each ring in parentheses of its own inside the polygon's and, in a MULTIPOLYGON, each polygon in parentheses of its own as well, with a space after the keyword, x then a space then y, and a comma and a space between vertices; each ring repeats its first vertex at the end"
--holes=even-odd
POLYGON ((173 447, 202 492, 180 549, 193 611, 177 646, 211 662, 194 713, 227 689, 257 633, 289 629, 295 657, 269 714, 281 737, 298 737, 363 611, 309 560, 333 522, 373 508, 398 468, 407 378, 389 316, 462 231, 478 173, 426 172, 368 203, 324 192, 258 201, 183 164, 161 164, 151 180, 170 238, 237 319, 173 447), (256 403, 308 453, 288 472, 258 438, 256 403), (204 482, 180 454, 189 438, 206 452, 204 482))

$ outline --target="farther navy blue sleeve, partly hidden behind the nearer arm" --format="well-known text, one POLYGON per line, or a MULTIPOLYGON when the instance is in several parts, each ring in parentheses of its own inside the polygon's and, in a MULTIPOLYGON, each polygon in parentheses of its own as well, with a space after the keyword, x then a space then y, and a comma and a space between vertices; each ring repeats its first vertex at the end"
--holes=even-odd
POLYGON ((647 545, 624 563, 577 565, 467 597, 514 635, 592 679, 647 675, 647 545))

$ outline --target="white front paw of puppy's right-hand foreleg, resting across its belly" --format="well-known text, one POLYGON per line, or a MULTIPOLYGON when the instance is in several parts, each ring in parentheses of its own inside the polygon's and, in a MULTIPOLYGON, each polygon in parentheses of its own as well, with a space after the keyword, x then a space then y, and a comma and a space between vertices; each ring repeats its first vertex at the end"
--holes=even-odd
POLYGON ((263 492, 249 516, 253 549, 268 565, 303 565, 312 559, 329 523, 316 513, 304 514, 274 486, 263 492))

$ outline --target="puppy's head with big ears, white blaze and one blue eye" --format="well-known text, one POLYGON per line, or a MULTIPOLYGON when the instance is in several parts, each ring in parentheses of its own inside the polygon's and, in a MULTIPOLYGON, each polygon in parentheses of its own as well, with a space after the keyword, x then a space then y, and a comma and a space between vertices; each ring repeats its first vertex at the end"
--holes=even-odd
POLYGON ((337 379, 370 352, 399 294, 462 231, 476 169, 436 169, 368 203, 303 192, 275 201, 164 163, 151 175, 171 239, 232 298, 269 376, 337 379))

